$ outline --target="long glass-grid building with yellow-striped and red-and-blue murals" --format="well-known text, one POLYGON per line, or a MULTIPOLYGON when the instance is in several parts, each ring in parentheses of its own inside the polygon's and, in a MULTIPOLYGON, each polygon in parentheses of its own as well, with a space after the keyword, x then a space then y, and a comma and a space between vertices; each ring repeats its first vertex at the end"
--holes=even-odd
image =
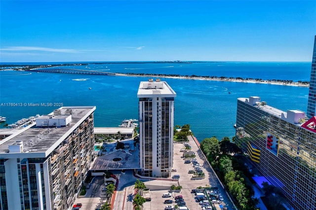
POLYGON ((236 143, 295 210, 316 209, 316 118, 238 98, 236 143))

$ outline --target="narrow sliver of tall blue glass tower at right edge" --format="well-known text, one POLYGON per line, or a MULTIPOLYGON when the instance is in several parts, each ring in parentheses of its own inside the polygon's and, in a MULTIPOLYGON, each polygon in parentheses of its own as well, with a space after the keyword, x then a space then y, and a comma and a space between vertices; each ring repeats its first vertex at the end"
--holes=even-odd
POLYGON ((315 116, 315 113, 316 113, 316 36, 315 36, 315 41, 314 41, 310 90, 309 90, 308 104, 307 104, 308 118, 315 116))

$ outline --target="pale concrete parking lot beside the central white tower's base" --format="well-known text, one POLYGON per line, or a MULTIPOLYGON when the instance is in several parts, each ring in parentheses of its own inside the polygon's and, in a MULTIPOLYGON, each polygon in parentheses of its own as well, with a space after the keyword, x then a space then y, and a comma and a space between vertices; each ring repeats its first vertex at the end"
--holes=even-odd
MULTIPOLYGON (((193 174, 189 174, 188 172, 190 170, 194 170, 193 164, 188 163, 185 164, 185 158, 183 157, 183 152, 180 152, 181 148, 184 148, 183 143, 174 143, 174 155, 173 155, 173 169, 176 169, 176 172, 172 172, 171 176, 174 175, 180 175, 180 178, 178 179, 179 185, 182 186, 181 192, 171 192, 170 198, 163 198, 162 195, 164 193, 169 193, 168 190, 155 190, 150 191, 150 194, 146 194, 144 196, 151 197, 150 202, 146 202, 144 204, 144 210, 164 210, 166 206, 172 206, 174 207, 177 203, 175 203, 175 197, 182 195, 183 199, 186 203, 186 206, 190 210, 201 210, 202 206, 196 202, 195 194, 191 193, 192 189, 196 189, 197 187, 218 187, 218 193, 221 194, 223 197, 223 201, 218 200, 218 205, 221 205, 222 207, 227 207, 227 209, 231 210, 232 204, 228 197, 226 196, 226 193, 224 189, 222 188, 221 184, 217 180, 216 176, 214 175, 211 167, 209 166, 208 162, 205 160, 205 157, 203 154, 201 154, 201 151, 199 150, 197 144, 195 143, 194 139, 192 137, 189 138, 189 144, 192 147, 192 151, 196 154, 196 160, 197 163, 201 165, 201 170, 205 174, 205 178, 203 179, 196 179, 192 180, 193 174), (163 202, 165 200, 172 200, 172 204, 164 204, 163 202)), ((146 182, 145 182, 146 184, 146 182)))

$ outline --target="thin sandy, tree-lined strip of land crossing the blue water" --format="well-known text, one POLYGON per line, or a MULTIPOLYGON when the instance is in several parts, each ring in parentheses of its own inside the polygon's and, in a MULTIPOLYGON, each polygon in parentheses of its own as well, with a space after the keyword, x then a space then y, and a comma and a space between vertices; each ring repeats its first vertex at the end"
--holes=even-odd
POLYGON ((273 84, 273 85, 285 85, 285 86, 299 86, 299 87, 309 87, 309 82, 298 81, 294 82, 292 80, 278 80, 278 79, 253 79, 253 78, 233 78, 233 77, 215 77, 215 76, 184 76, 184 75, 168 75, 168 74, 143 74, 143 73, 113 73, 117 76, 140 76, 140 77, 159 77, 159 78, 172 78, 172 79, 196 79, 196 80, 207 80, 207 81, 223 81, 223 82, 245 82, 245 83, 258 83, 258 84, 273 84))

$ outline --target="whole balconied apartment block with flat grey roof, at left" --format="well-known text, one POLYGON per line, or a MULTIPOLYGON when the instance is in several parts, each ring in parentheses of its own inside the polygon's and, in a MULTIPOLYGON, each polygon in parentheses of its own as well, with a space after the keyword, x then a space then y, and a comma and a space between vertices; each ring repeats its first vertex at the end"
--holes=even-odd
POLYGON ((0 210, 67 210, 94 159, 95 106, 65 106, 0 141, 0 210))

